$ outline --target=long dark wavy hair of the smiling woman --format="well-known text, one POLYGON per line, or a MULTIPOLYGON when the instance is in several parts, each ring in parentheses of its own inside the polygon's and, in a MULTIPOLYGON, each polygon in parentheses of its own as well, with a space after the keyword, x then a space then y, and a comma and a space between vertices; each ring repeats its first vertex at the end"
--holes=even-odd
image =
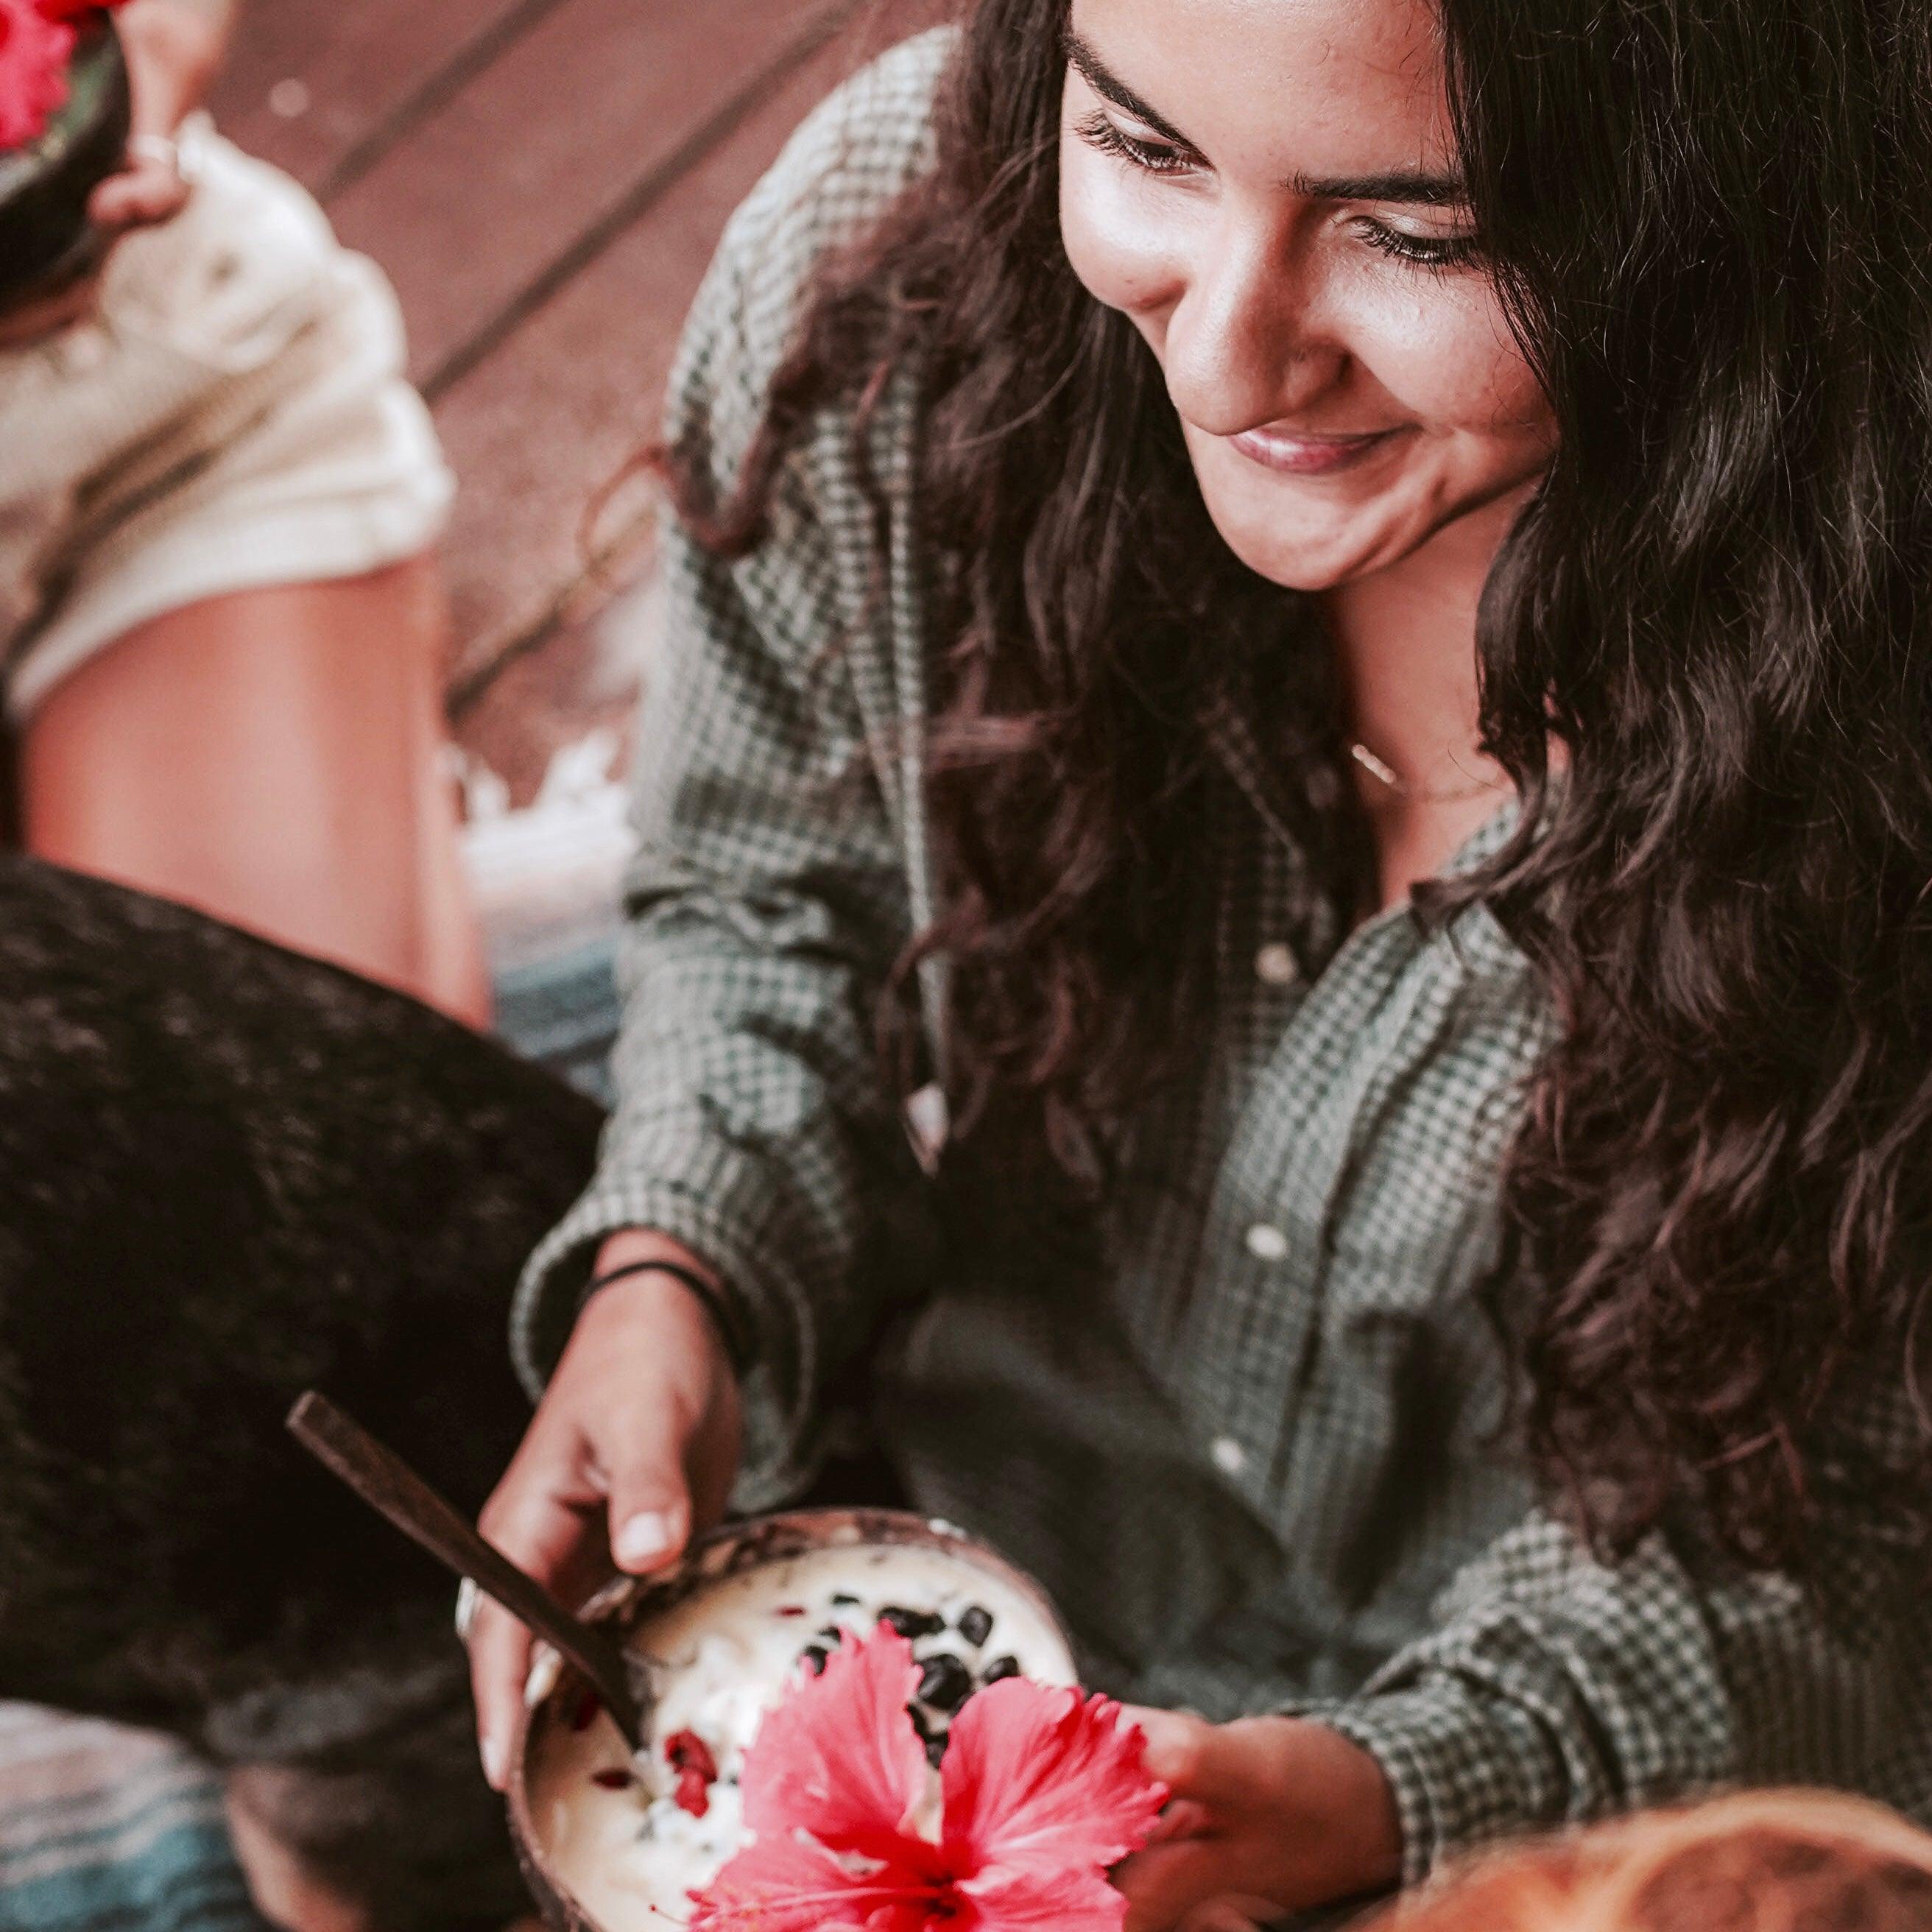
MULTIPOLYGON (((1607 1549, 1685 1499, 1754 1565, 1853 1503, 1917 1546, 1926 1430, 1880 1457, 1837 1420, 1874 1364, 1917 1401, 1932 1275, 1924 10, 1439 17, 1561 437, 1476 638, 1520 829, 1416 895, 1488 902, 1559 1022, 1501 1179, 1530 1445, 1607 1549)), ((742 551, 806 419, 916 371, 954 1119, 1092 1177, 1215 997, 1211 719, 1260 732, 1345 918, 1374 873, 1310 607, 1215 537, 1153 357, 1061 249, 1063 33, 1065 0, 972 8, 937 166, 825 267, 736 497, 672 469, 742 551)))

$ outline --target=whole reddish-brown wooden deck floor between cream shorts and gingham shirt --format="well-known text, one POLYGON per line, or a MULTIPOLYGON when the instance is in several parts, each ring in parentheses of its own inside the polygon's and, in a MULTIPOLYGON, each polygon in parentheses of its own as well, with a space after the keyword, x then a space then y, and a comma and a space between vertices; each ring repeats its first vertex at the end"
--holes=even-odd
POLYGON ((649 541, 585 508, 657 423, 723 222, 937 0, 247 0, 214 100, 402 296, 462 491, 458 734, 518 796, 628 711, 649 541), (618 622, 612 622, 612 601, 618 622))

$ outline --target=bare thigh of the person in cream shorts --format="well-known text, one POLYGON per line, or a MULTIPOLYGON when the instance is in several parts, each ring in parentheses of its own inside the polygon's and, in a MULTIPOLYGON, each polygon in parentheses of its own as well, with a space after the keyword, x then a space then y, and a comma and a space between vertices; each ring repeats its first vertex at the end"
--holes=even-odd
POLYGON ((29 721, 25 842, 481 1026, 489 978, 442 769, 442 639, 427 556, 141 624, 29 721))

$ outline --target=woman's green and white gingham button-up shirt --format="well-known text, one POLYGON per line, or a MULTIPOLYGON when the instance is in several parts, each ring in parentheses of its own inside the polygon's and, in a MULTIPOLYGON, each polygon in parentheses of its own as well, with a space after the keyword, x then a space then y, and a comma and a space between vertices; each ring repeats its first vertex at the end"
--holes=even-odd
MULTIPOLYGON (((813 263, 929 164, 949 46, 862 73, 732 220, 670 402, 672 433, 707 425, 721 479, 813 263)), ((1372 1750, 1410 1878, 1731 1781, 1924 1810, 1932 1646, 1880 1563, 1847 1544, 1808 1598, 1662 1536, 1607 1567, 1538 1511, 1470 1287, 1544 1005, 1482 908, 1437 937, 1406 908, 1291 927, 1310 895, 1240 721, 1204 854, 1223 997, 1198 1074, 1138 1124, 1107 1267, 1020 1293, 954 1265, 923 1300, 895 1267, 929 1208, 873 1051, 881 978, 933 910, 916 413, 906 377, 869 431, 883 556, 842 412, 811 425, 757 554, 721 564, 667 531, 620 1107, 520 1291, 526 1379, 603 1235, 674 1235, 752 1343, 738 1501, 763 1507, 808 1480, 827 1379, 896 1308, 879 1430, 918 1503, 1041 1578, 1090 1681, 1209 1716, 1312 1710, 1372 1750)), ((937 1049, 943 980, 923 993, 937 1049)))

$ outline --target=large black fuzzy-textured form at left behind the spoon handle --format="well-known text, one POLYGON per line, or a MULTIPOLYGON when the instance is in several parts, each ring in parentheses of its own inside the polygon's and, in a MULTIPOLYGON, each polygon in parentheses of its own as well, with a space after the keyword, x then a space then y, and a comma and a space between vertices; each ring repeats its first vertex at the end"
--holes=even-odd
POLYGON ((477 1509, 599 1126, 413 1001, 0 860, 0 1696, 274 1768, 270 1828, 396 1932, 524 1893, 448 1577, 282 1416, 321 1387, 477 1509))

